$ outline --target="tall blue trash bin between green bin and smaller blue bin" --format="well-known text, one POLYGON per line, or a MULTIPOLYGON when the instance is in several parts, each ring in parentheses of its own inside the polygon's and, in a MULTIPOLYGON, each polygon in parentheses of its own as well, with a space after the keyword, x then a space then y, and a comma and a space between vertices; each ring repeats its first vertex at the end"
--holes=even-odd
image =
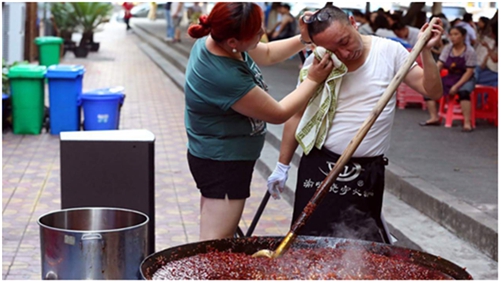
POLYGON ((49 82, 50 133, 80 129, 80 96, 85 68, 81 65, 52 65, 45 77, 49 82))

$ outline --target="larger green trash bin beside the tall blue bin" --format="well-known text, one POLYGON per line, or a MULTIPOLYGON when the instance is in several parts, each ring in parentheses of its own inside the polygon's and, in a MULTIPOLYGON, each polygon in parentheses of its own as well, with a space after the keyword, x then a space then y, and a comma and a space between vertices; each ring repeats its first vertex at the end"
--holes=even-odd
POLYGON ((9 69, 14 134, 38 135, 45 117, 45 66, 17 65, 9 69))

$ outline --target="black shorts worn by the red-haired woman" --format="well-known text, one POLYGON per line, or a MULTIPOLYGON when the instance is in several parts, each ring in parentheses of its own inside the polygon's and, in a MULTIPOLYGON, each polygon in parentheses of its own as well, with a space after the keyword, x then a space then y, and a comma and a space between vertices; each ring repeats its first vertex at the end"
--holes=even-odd
POLYGON ((219 161, 193 156, 188 150, 188 165, 202 196, 215 199, 246 199, 255 160, 219 161))

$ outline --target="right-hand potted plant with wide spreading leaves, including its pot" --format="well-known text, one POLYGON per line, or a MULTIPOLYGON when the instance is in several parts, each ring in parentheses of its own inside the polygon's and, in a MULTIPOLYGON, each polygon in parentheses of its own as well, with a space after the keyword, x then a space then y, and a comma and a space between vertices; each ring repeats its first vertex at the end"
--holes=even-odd
POLYGON ((82 39, 75 48, 75 56, 78 50, 79 55, 86 57, 89 49, 95 51, 99 49, 99 43, 94 42, 94 31, 100 24, 109 20, 113 6, 105 2, 72 2, 70 4, 82 28, 82 39))

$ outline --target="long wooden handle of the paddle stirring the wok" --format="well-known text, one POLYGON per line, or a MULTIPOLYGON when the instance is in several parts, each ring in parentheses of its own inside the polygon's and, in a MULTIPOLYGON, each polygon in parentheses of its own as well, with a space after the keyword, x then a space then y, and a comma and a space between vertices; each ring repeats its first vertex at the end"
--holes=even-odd
POLYGON ((386 104, 388 104, 388 101, 390 101, 391 97, 393 96, 393 93, 400 85, 400 83, 403 81, 410 67, 416 61, 417 56, 424 48, 428 40, 431 38, 432 36, 431 30, 433 29, 433 25, 436 24, 437 21, 438 18, 433 18, 431 20, 428 28, 419 38, 416 45, 414 45, 414 48, 410 52, 409 56, 405 60, 402 67, 400 67, 400 69, 398 70, 395 77, 393 77, 393 80, 390 82, 390 85, 383 93, 383 96, 381 96, 376 106, 371 111, 369 117, 367 117, 365 122, 362 124, 362 127, 358 130, 358 132, 355 134, 353 139, 348 144, 348 147, 343 151, 343 154, 341 154, 338 161, 336 162, 336 165, 334 166, 334 168, 332 168, 329 175, 327 175, 324 181, 320 184, 320 187, 318 187, 317 191, 311 198, 310 202, 303 209, 303 212, 301 213, 299 218, 294 222, 294 225, 292 226, 289 233, 287 233, 287 236, 282 240, 277 250, 275 250, 274 257, 279 257, 285 250, 289 248, 292 241, 296 238, 297 231, 299 231, 299 229, 301 229, 301 227, 304 226, 305 222, 308 220, 312 212, 316 209, 318 204, 322 201, 322 199, 329 191, 329 188, 332 186, 332 184, 334 184, 335 180, 341 173, 342 169, 344 168, 346 163, 348 163, 348 161, 351 159, 353 153, 355 153, 358 146, 360 145, 364 137, 367 135, 374 122, 376 122, 376 119, 379 117, 383 109, 386 107, 386 104))

